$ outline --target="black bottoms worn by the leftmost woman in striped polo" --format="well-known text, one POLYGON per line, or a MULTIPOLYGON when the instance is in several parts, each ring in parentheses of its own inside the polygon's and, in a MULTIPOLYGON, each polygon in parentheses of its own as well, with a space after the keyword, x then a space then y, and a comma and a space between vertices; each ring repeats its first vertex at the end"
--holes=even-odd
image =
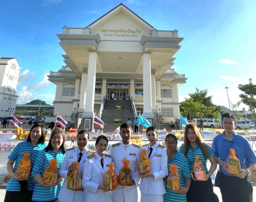
POLYGON ((4 202, 30 202, 33 191, 6 191, 4 202))

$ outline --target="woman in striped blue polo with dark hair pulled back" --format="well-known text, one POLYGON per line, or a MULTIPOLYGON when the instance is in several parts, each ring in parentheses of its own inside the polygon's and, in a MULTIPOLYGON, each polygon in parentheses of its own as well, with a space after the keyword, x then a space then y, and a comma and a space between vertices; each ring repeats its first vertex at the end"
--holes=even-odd
POLYGON ((170 174, 170 164, 175 164, 178 166, 178 172, 180 176, 180 190, 172 191, 167 188, 167 177, 163 179, 165 183, 165 191, 163 194, 163 201, 165 202, 186 202, 186 193, 188 193, 189 186, 191 184, 191 172, 188 165, 188 160, 180 152, 177 151, 177 138, 175 134, 167 134, 165 137, 165 146, 167 148, 168 163, 167 167, 169 169, 168 175, 170 174))

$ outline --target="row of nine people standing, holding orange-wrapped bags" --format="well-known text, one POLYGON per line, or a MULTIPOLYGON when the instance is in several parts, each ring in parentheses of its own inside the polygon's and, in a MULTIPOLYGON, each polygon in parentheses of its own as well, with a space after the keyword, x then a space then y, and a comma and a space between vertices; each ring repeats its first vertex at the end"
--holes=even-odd
POLYGON ((200 132, 194 124, 188 124, 184 131, 184 144, 177 150, 177 138, 174 134, 167 134, 165 147, 160 145, 157 128, 151 126, 146 129, 149 143, 143 146, 131 142, 132 126, 123 123, 120 126, 122 141, 110 146, 108 154, 108 139, 98 136, 96 151, 87 148, 89 134, 79 131, 77 146, 66 150, 63 129, 56 128, 51 133, 49 144, 44 143, 44 126, 35 124, 30 129, 27 141, 18 143, 8 156, 7 169, 11 175, 6 188, 4 202, 14 201, 138 201, 138 189, 141 191, 140 201, 219 201, 214 193, 210 176, 214 173, 217 163, 221 165, 220 189, 222 201, 246 202, 252 201, 252 186, 248 181, 250 172, 256 169, 256 156, 248 141, 234 133, 234 117, 231 114, 222 116, 224 133, 214 138, 212 148, 205 144, 200 132), (236 157, 240 159, 241 170, 239 175, 228 172, 227 156, 229 148, 236 150, 236 157), (146 150, 150 159, 150 173, 139 175, 138 162, 141 151, 146 150), (30 152, 32 174, 29 179, 22 180, 15 173, 23 153, 30 152), (226 155, 227 153, 227 155, 226 155), (204 181, 191 179, 195 155, 199 156, 206 172, 204 181), (49 160, 58 161, 58 180, 53 186, 44 186, 42 176, 49 165, 49 160), (118 184, 117 189, 110 191, 103 186, 103 175, 108 170, 108 164, 115 164, 115 172, 119 174, 124 166, 122 160, 129 160, 131 169, 130 186, 118 184), (207 160, 210 160, 210 169, 207 169, 207 160), (82 188, 78 191, 67 189, 67 176, 74 168, 72 162, 79 162, 79 171, 82 175, 82 188), (15 163, 15 167, 13 165, 15 163), (176 164, 180 175, 178 191, 167 188, 167 178, 170 174, 169 165, 176 164), (140 183, 139 183, 140 181, 140 183))

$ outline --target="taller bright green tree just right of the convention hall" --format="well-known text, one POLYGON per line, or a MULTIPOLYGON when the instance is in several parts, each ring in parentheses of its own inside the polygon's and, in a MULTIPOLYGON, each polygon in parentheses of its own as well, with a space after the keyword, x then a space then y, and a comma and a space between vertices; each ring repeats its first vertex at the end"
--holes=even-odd
POLYGON ((199 88, 196 88, 195 93, 188 94, 191 98, 193 98, 194 102, 198 103, 200 117, 203 117, 203 115, 205 115, 205 112, 210 113, 210 108, 207 109, 205 107, 214 106, 214 104, 212 104, 212 96, 207 96, 207 94, 207 90, 199 90, 199 88))

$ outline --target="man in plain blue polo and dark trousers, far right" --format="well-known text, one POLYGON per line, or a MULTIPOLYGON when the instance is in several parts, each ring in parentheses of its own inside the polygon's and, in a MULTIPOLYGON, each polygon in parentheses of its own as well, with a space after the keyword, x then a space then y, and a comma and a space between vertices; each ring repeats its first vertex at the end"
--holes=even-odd
POLYGON ((221 189, 223 202, 252 202, 253 188, 248 175, 256 169, 256 156, 248 140, 234 133, 235 121, 233 115, 223 114, 222 126, 225 131, 217 135, 212 143, 215 159, 221 167, 219 188, 221 189), (229 148, 236 151, 236 157, 240 160, 241 169, 238 175, 229 174, 227 170, 229 148))

